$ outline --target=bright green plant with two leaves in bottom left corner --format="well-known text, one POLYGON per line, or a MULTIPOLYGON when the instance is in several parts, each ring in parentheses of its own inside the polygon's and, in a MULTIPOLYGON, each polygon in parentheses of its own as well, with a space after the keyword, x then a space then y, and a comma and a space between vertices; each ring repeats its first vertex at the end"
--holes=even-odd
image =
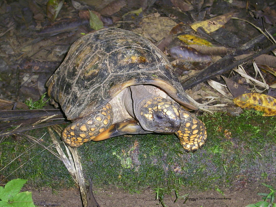
POLYGON ((14 179, 8 182, 5 187, 0 186, 0 206, 5 207, 35 207, 32 199, 32 192, 20 192, 27 182, 24 179, 14 179))

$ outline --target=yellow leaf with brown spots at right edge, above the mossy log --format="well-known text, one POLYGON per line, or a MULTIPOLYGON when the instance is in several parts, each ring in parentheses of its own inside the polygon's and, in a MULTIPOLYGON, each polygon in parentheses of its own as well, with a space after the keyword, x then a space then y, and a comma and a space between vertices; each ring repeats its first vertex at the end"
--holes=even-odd
POLYGON ((263 116, 276 115, 276 99, 265 94, 242 94, 233 101, 241 108, 253 108, 257 111, 263 111, 263 116))

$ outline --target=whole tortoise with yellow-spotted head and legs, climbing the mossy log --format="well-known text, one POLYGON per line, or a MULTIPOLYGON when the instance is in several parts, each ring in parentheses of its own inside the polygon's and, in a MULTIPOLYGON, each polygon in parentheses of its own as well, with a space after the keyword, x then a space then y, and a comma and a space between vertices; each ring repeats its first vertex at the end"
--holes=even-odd
POLYGON ((76 40, 46 85, 72 123, 62 140, 72 148, 124 134, 175 133, 186 152, 206 141, 205 124, 167 57, 144 37, 117 28, 76 40))

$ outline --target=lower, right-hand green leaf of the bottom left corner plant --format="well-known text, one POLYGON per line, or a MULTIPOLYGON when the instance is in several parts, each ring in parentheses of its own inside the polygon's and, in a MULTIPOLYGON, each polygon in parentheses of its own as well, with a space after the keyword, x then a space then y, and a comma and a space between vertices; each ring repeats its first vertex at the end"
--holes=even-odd
POLYGON ((32 192, 24 191, 10 200, 10 204, 14 207, 35 207, 33 204, 32 192))

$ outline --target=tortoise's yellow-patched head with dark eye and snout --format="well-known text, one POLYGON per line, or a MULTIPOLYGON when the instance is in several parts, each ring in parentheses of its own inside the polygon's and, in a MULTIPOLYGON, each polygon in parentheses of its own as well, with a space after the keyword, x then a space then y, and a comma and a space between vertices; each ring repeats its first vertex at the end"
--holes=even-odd
POLYGON ((180 128, 179 105, 154 96, 141 100, 134 111, 141 127, 147 131, 172 133, 180 128))

